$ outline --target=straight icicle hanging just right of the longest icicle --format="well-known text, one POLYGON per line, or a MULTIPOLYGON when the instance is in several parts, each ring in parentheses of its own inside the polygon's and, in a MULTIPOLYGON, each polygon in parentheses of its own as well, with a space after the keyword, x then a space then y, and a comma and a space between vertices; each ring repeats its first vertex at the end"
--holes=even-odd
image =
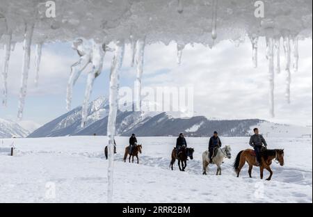
POLYGON ((135 102, 136 111, 141 111, 141 77, 143 76, 143 60, 145 56, 145 38, 138 40, 137 42, 137 74, 135 82, 135 102))

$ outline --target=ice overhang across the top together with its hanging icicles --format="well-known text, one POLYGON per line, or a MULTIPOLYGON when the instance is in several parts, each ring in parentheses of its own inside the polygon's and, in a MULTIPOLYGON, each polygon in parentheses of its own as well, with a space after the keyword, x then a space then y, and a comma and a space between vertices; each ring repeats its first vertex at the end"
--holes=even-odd
MULTIPOLYGON (((239 45, 247 35, 255 67, 259 37, 266 38, 269 108, 274 117, 274 73, 286 72, 286 99, 290 103, 291 72, 298 70, 298 40, 312 38, 312 0, 0 0, 0 48, 5 53, 0 74, 2 104, 6 106, 10 53, 17 42, 24 42, 18 118, 22 118, 24 110, 32 45, 35 45, 35 82, 38 83, 42 44, 70 41, 79 55, 77 63, 71 66, 67 109, 70 109, 72 86, 86 65, 93 66, 88 72, 83 102, 84 121, 93 81, 102 72, 106 51, 115 53, 110 84, 113 93, 110 97, 115 99, 125 43, 131 44, 137 88, 141 90, 146 44, 177 42, 180 63, 186 44, 213 47, 222 40, 232 40, 239 45), (49 9, 55 9, 56 16, 48 16, 49 9), (114 42, 115 48, 107 47, 110 42, 114 42)), ((140 91, 137 93, 140 99, 140 91)))

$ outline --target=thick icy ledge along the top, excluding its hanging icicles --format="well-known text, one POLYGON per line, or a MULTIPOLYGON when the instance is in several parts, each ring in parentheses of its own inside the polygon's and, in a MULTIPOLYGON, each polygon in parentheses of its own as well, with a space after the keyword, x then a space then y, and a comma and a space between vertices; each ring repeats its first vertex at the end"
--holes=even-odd
POLYGON ((214 13, 215 43, 240 42, 251 34, 264 36, 268 27, 274 35, 312 35, 311 0, 264 0, 264 18, 255 17, 256 1, 252 0, 55 0, 55 18, 46 16, 46 2, 0 0, 0 35, 12 31, 13 42, 22 42, 25 24, 33 24, 34 43, 77 37, 108 43, 145 35, 147 43, 176 40, 211 46, 214 13))

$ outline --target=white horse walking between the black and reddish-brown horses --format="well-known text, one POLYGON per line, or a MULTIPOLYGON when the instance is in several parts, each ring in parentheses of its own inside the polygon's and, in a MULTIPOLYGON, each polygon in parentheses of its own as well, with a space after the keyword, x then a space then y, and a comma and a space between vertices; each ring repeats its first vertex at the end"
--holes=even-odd
MULTIPOLYGON (((223 148, 218 148, 216 156, 213 157, 211 164, 216 164, 217 171, 216 175, 222 175, 222 168, 220 168, 220 165, 223 163, 223 160, 225 158, 231 159, 232 154, 230 153, 232 150, 230 148, 230 145, 226 145, 223 148)), ((203 175, 207 175, 207 172, 209 172, 208 167, 209 166, 209 151, 205 151, 202 154, 202 165, 203 165, 203 175)))

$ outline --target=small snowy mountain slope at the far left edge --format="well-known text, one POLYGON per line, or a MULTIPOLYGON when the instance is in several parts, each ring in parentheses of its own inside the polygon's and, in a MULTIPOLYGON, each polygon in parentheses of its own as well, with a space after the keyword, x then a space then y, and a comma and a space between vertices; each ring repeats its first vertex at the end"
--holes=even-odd
POLYGON ((0 118, 0 138, 26 137, 29 131, 16 122, 0 118))

